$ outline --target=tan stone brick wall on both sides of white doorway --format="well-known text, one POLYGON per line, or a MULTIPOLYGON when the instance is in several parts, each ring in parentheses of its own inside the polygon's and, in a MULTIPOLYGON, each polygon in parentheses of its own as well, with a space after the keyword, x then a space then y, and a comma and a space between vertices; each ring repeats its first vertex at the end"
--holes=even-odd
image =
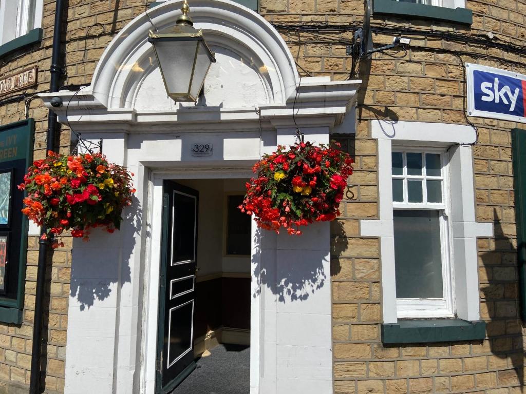
MULTIPOLYGON (((90 82, 97 60, 110 40, 129 20, 144 12, 151 0, 69 0, 64 85, 90 82)), ((47 90, 55 2, 44 1, 44 39, 0 59, 0 77, 38 65, 38 86, 47 90)), ((261 0, 261 13, 275 24, 359 24, 361 0, 261 0)), ((503 40, 524 45, 526 3, 516 0, 468 2, 473 9, 471 28, 374 18, 373 25, 412 26, 420 29, 478 34, 491 31, 503 40)), ((350 58, 345 47, 351 31, 324 33, 280 30, 291 53, 298 55, 301 75, 330 75, 346 79, 350 58), (320 37, 323 43, 320 44, 320 37)), ((390 43, 392 35, 375 34, 375 43, 390 43)), ((333 341, 335 392, 486 392, 512 394, 523 382, 524 329, 518 319, 517 261, 513 210, 510 129, 521 125, 492 119, 470 118, 479 129, 473 148, 476 172, 477 217, 495 223, 495 238, 478 242, 482 318, 487 320, 484 341, 383 347, 381 323, 379 240, 360 237, 359 219, 376 218, 378 212, 377 145, 370 138, 370 119, 466 123, 462 111, 462 65, 452 50, 472 51, 514 61, 517 55, 491 46, 468 45, 435 37, 413 36, 407 54, 397 58, 377 54, 362 65, 357 133, 343 139, 355 154, 355 173, 342 203, 341 220, 332 223, 333 341), (365 67, 364 67, 365 66, 365 67)), ((464 61, 510 69, 498 59, 462 56, 464 61)), ((526 72, 522 67, 513 68, 526 72)), ((0 124, 24 119, 24 101, 0 106, 0 124)), ((47 110, 42 102, 29 103, 36 120, 35 158, 45 154, 47 110)), ((67 128, 60 133, 60 149, 69 149, 67 128)), ((45 390, 63 392, 69 295, 70 240, 49 257, 43 370, 45 390), (47 318, 48 316, 48 318, 47 318)), ((31 362, 32 322, 35 302, 38 244, 30 237, 27 256, 24 322, 0 324, 0 393, 27 392, 31 362)))

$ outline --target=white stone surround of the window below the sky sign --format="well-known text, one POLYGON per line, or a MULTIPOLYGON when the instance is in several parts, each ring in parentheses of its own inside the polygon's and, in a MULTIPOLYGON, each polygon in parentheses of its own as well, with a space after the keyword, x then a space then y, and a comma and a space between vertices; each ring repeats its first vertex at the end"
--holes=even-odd
MULTIPOLYGON (((380 237, 383 323, 398 322, 391 178, 392 145, 438 147, 447 152, 450 189, 451 278, 454 317, 480 319, 477 237, 493 236, 493 223, 477 223, 470 126, 451 123, 371 121, 378 139, 379 220, 361 220, 361 236, 380 237)), ((432 316, 429 316, 432 317, 432 316)), ((439 317, 439 316, 437 316, 439 317)), ((401 318, 401 317, 400 317, 401 318)))

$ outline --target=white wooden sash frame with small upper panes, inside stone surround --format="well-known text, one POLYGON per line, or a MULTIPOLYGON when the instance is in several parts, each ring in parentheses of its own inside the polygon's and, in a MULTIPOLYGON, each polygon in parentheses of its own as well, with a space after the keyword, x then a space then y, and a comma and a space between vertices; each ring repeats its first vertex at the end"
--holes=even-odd
POLYGON ((393 152, 402 152, 403 172, 402 175, 391 175, 392 179, 403 179, 404 195, 403 202, 393 201, 393 210, 431 210, 440 213, 440 242, 442 260, 442 298, 397 298, 397 317, 398 318, 429 318, 429 317, 454 317, 454 298, 452 296, 452 267, 451 267, 451 231, 449 228, 450 198, 449 198, 449 165, 446 159, 446 151, 439 148, 412 147, 404 146, 392 147, 393 152), (407 153, 422 154, 422 175, 407 174, 407 153), (432 177, 426 173, 426 153, 440 154, 441 175, 432 177), (422 201, 421 203, 408 202, 407 180, 422 180, 422 201), (442 182, 442 202, 427 202, 426 180, 440 180, 442 182))

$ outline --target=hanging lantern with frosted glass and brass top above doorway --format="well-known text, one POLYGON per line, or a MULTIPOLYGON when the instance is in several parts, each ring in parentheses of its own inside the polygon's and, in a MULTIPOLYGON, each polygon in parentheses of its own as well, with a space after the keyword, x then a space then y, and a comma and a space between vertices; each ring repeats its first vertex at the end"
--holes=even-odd
POLYGON ((173 32, 153 33, 148 42, 154 46, 166 92, 174 101, 196 101, 208 69, 216 58, 206 45, 201 29, 193 27, 185 0, 173 32))

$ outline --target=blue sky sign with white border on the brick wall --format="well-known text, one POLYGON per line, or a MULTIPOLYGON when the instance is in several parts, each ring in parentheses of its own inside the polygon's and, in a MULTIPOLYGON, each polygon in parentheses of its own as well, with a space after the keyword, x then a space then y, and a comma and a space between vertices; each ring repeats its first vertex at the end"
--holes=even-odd
POLYGON ((526 123, 526 75, 466 63, 468 115, 526 123))

